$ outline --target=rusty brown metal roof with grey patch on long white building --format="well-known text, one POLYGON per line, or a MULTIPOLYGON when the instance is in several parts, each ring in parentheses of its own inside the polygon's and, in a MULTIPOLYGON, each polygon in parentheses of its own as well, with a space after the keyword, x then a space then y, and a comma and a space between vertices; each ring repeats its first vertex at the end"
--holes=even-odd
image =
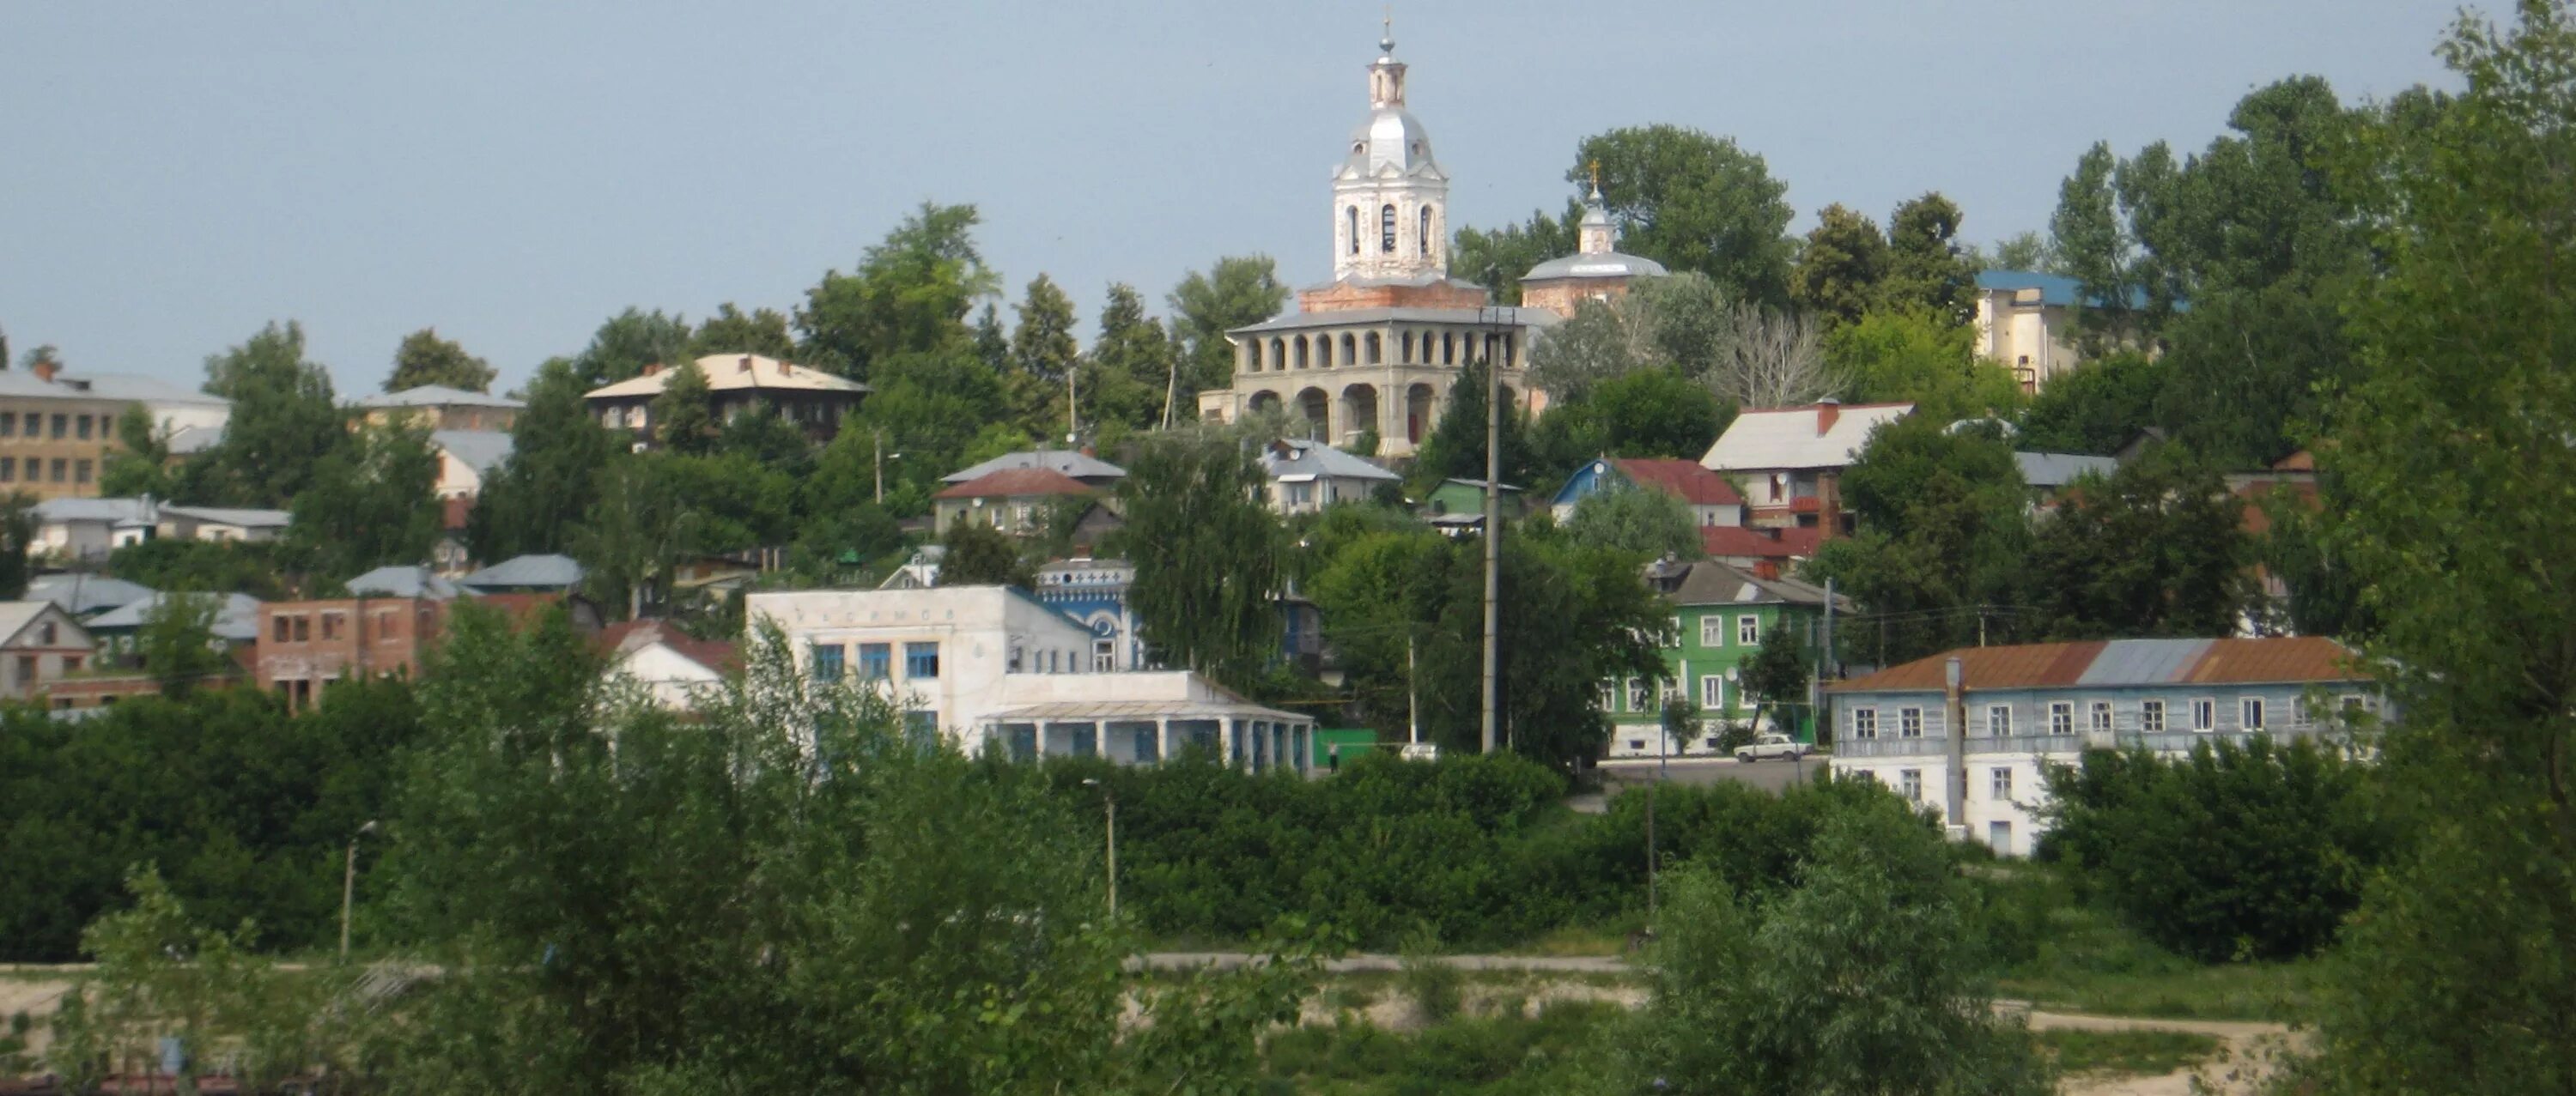
POLYGON ((1960 661, 1968 690, 2352 682, 2365 677, 2352 651, 2318 635, 2172 638, 1981 646, 1914 659, 1837 682, 1832 692, 1940 692, 1960 661))

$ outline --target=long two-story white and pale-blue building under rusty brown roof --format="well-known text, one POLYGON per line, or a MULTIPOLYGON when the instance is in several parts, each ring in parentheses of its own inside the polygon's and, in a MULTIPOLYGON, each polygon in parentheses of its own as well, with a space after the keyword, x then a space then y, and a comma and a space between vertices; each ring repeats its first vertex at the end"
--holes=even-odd
POLYGON ((2329 638, 2154 638, 1960 648, 1826 687, 1834 774, 1878 780, 1960 839, 2027 854, 2048 767, 2087 749, 2321 736, 2378 692, 2329 638))

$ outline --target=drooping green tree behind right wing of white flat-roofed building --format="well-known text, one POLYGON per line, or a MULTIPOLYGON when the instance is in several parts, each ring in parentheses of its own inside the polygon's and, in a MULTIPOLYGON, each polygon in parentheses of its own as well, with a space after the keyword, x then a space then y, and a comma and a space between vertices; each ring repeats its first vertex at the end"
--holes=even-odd
POLYGON ((1249 687, 1278 659, 1280 527, 1262 468, 1221 432, 1149 435, 1118 481, 1128 602, 1164 664, 1249 687))

